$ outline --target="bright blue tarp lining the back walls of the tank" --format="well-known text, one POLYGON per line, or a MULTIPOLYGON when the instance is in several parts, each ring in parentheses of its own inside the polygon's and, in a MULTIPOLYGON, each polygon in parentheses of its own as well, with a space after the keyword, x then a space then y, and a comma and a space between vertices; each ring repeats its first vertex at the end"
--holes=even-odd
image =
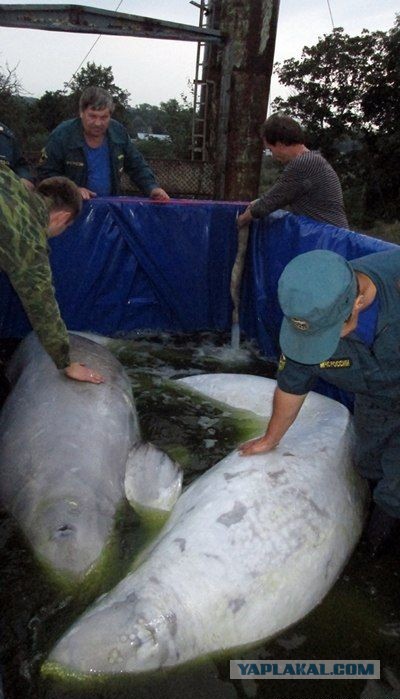
MULTIPOLYGON (((230 275, 243 203, 155 203, 103 198, 85 203, 74 225, 50 241, 54 285, 70 330, 123 335, 134 330, 229 330, 230 275)), ((276 288, 296 255, 328 248, 347 259, 389 243, 287 212, 254 222, 240 309, 241 329, 277 356, 281 312, 276 288)), ((30 329, 0 274, 0 334, 30 329)))

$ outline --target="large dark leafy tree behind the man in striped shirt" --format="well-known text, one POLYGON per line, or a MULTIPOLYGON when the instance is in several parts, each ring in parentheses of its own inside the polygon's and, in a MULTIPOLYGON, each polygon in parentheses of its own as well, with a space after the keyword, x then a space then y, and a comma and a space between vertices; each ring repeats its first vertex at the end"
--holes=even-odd
POLYGON ((336 28, 275 69, 290 94, 272 107, 299 119, 333 164, 351 223, 398 219, 400 17, 388 32, 336 28))

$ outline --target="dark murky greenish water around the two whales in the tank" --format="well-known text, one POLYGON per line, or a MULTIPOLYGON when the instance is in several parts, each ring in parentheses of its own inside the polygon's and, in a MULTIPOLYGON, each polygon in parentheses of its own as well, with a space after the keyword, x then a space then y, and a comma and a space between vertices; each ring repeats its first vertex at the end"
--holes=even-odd
MULTIPOLYGON (((252 435, 254 424, 234 410, 194 402, 171 378, 225 371, 273 376, 274 365, 254 350, 233 352, 228 337, 147 336, 113 347, 131 377, 143 436, 182 463, 185 482, 252 435)), ((116 579, 146 540, 128 509, 118 518, 116 579)), ((55 639, 86 607, 56 594, 35 564, 16 525, 0 512, 0 658, 6 699, 391 699, 400 691, 365 680, 230 680, 229 659, 379 659, 387 678, 400 676, 398 555, 371 562, 363 541, 325 600, 305 619, 260 647, 163 673, 93 686, 56 685, 39 676, 55 639)), ((108 580, 110 584, 110 579, 108 580)), ((393 682, 392 682, 393 684, 393 682)))

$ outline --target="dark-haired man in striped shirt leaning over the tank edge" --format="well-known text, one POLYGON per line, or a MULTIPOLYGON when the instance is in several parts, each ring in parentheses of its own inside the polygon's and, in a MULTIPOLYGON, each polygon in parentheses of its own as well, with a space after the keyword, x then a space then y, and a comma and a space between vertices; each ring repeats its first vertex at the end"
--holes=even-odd
POLYGON ((301 126, 289 116, 274 114, 264 123, 263 141, 285 168, 275 184, 239 216, 239 227, 289 207, 298 216, 348 228, 339 178, 320 153, 305 146, 301 126))

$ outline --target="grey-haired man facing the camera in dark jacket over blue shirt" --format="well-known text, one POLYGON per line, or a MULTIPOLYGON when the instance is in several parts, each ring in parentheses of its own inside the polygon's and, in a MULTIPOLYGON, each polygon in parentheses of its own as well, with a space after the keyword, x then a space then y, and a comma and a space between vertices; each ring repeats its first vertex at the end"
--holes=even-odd
POLYGON ((79 118, 63 121, 43 149, 39 177, 64 175, 78 185, 83 199, 121 193, 123 172, 141 192, 155 201, 168 201, 154 173, 135 148, 122 124, 111 118, 111 95, 88 87, 79 101, 79 118))

